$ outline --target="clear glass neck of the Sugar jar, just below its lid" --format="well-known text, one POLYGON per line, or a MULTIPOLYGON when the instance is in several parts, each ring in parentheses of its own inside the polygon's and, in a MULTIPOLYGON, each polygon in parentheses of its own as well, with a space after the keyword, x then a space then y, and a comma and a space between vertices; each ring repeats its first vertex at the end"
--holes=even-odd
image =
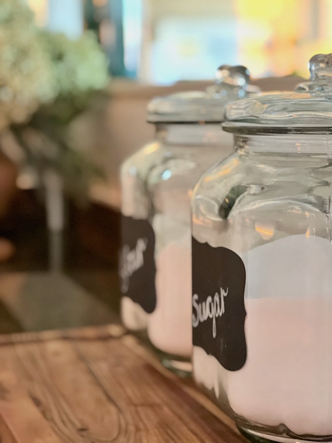
POLYGON ((299 154, 332 157, 332 135, 234 135, 235 149, 244 153, 299 154))

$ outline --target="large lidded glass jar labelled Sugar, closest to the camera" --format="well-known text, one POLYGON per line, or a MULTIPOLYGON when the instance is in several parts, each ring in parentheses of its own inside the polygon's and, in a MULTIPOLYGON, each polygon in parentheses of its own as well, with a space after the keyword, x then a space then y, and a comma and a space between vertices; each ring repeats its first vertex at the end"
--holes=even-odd
POLYGON ((193 371, 252 441, 332 441, 332 54, 229 105, 193 208, 193 371))

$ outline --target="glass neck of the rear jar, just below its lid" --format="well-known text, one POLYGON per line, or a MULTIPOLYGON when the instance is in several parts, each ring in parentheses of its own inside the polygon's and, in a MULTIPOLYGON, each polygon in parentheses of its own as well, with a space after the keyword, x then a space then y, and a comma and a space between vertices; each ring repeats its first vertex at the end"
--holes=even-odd
POLYGON ((224 143, 225 138, 232 136, 224 132, 220 123, 178 123, 157 124, 156 138, 168 145, 213 146, 224 143))

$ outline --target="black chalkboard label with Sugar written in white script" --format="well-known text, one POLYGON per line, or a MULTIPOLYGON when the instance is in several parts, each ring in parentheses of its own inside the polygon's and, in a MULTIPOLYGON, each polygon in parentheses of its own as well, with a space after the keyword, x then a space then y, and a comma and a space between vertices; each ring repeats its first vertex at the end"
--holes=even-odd
POLYGON ((246 270, 238 254, 193 238, 193 344, 230 371, 247 359, 246 270))

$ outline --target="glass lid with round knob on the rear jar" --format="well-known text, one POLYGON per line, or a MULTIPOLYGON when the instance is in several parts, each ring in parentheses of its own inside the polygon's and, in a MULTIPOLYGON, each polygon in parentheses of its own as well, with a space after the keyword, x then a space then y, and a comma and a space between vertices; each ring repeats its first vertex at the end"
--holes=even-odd
POLYGON ((148 105, 149 123, 220 123, 228 103, 257 95, 259 88, 249 85, 245 66, 221 65, 215 84, 205 91, 177 92, 156 97, 148 105))

